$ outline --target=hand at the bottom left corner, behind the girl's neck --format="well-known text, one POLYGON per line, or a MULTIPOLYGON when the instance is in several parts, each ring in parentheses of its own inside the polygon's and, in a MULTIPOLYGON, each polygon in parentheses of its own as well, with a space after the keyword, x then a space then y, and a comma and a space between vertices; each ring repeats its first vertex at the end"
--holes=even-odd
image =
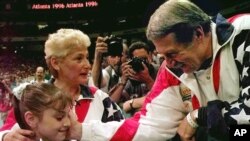
POLYGON ((6 133, 3 141, 36 141, 35 133, 30 130, 16 129, 6 133))

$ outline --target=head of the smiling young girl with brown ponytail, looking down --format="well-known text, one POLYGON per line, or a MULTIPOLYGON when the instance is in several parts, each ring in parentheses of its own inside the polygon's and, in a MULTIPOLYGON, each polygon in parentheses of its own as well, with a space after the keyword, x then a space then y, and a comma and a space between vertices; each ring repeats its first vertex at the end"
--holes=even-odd
POLYGON ((72 99, 52 84, 28 84, 14 97, 14 113, 22 129, 30 129, 34 140, 63 141, 70 127, 72 99))

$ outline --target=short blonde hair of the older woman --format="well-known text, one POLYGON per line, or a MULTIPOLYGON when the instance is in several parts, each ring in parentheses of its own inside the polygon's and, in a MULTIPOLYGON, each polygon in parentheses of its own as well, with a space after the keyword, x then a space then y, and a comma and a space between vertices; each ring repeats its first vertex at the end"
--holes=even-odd
POLYGON ((44 45, 45 59, 47 66, 54 77, 57 71, 51 66, 50 58, 65 57, 75 48, 87 49, 90 46, 90 38, 87 34, 77 29, 59 29, 49 34, 44 45))

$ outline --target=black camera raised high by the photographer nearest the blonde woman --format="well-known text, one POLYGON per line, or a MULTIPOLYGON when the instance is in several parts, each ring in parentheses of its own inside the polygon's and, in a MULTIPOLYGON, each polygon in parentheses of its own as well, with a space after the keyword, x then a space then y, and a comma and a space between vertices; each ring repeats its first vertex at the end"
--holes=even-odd
POLYGON ((123 51, 122 38, 110 35, 108 39, 105 40, 108 45, 108 52, 106 56, 121 56, 123 51))

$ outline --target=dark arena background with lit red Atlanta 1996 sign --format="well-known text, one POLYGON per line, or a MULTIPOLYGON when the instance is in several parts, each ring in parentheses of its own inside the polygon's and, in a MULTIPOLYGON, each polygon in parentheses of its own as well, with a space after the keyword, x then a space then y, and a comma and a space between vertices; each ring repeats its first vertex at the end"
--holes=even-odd
MULTIPOLYGON (((91 37, 90 58, 98 35, 115 34, 128 43, 137 39, 146 40, 148 19, 164 1, 1 0, 0 55, 15 54, 27 59, 41 59, 47 35, 63 27, 80 29, 91 37)), ((249 0, 191 1, 211 16, 220 12, 230 17, 250 11, 249 0)))

